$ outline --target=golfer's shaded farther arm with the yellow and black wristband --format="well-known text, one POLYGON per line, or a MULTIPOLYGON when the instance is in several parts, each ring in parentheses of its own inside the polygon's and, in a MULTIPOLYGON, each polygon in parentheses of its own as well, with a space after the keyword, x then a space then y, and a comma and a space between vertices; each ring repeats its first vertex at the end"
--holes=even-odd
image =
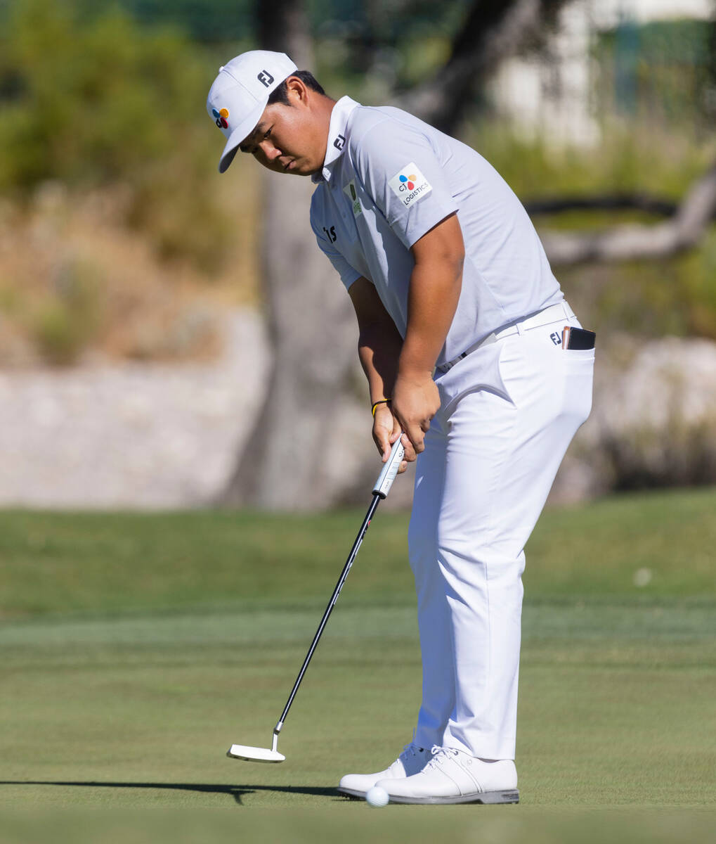
MULTIPOLYGON (((368 378, 370 403, 373 404, 393 394, 403 338, 368 279, 361 277, 353 282, 348 288, 348 295, 358 317, 358 357, 368 378)), ((400 425, 390 407, 385 403, 379 404, 375 408, 373 439, 383 463, 390 456, 391 442, 395 442, 398 436, 400 425)), ((403 446, 406 446, 406 460, 415 460, 415 452, 407 437, 403 437, 403 446)), ((399 471, 404 472, 406 466, 404 461, 399 471)))

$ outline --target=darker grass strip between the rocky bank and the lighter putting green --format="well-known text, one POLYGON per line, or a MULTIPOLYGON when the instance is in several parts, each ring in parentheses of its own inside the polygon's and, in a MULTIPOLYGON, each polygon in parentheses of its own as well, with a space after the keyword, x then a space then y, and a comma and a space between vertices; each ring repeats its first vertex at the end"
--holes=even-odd
MULTIPOLYGON (((714 511, 712 489, 547 511, 527 548, 527 600, 711 601, 714 511), (634 586, 641 568, 648 587, 634 586)), ((0 511, 0 618, 320 604, 362 517, 0 511)), ((342 603, 412 605, 406 529, 379 509, 342 603)))

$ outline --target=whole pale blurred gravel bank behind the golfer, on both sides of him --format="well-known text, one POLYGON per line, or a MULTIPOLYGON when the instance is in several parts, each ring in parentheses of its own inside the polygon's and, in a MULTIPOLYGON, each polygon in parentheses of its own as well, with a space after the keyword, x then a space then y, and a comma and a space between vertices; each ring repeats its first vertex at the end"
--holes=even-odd
MULTIPOLYGON (((226 317, 210 363, 0 373, 0 506, 159 508, 217 500, 259 412, 271 349, 261 317, 226 317)), ((361 376, 362 377, 362 376, 361 376)), ((363 504, 380 472, 366 399, 347 398, 326 463, 336 503, 363 504)), ((413 472, 386 507, 410 506, 413 472)), ((600 345, 592 414, 552 503, 611 490, 716 483, 716 344, 622 338, 600 345)))

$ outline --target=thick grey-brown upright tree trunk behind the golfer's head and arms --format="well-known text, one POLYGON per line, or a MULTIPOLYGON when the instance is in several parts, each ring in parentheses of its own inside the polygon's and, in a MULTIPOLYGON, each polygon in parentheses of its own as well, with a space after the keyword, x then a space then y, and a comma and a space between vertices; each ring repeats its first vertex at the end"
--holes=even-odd
MULTIPOLYGON (((258 3, 259 41, 314 65, 305 3, 258 3)), ((326 506, 332 419, 355 356, 353 308, 315 245, 309 179, 261 181, 261 276, 273 349, 266 400, 222 500, 269 510, 326 506)))

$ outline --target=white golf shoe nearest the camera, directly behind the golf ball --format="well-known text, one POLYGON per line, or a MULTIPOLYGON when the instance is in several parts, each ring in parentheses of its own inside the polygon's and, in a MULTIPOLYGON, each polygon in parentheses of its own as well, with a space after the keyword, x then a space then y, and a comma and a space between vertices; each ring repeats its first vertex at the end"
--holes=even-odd
POLYGON ((435 745, 422 771, 403 779, 386 777, 390 803, 519 803, 517 770, 511 759, 485 761, 435 745))

